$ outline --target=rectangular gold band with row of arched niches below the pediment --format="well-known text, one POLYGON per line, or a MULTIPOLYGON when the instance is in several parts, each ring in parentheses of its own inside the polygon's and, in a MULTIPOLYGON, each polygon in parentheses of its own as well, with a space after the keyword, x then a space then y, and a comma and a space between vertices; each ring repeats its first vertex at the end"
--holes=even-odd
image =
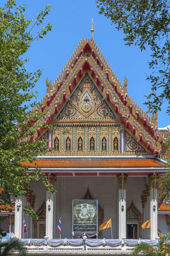
POLYGON ((93 124, 84 127, 75 125, 66 125, 65 127, 59 125, 57 129, 53 130, 53 145, 55 144, 55 138, 59 140, 59 150, 54 148, 53 152, 47 154, 51 156, 55 155, 101 155, 101 154, 120 154, 120 125, 98 125, 93 124), (63 134, 64 129, 67 129, 68 134, 63 134), (78 139, 81 137, 82 150, 78 150, 78 139), (90 150, 90 139, 94 138, 94 150, 90 150), (69 138, 71 142, 71 150, 66 150, 66 140, 69 138), (106 139, 106 150, 102 150, 102 140, 106 139), (115 138, 118 140, 118 150, 114 150, 113 143, 115 138))

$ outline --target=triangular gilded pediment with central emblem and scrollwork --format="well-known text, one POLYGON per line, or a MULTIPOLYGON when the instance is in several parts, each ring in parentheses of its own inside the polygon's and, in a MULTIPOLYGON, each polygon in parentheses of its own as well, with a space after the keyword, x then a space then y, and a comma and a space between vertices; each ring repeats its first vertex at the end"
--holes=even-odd
POLYGON ((56 117, 59 122, 118 122, 115 113, 86 74, 72 97, 56 117))

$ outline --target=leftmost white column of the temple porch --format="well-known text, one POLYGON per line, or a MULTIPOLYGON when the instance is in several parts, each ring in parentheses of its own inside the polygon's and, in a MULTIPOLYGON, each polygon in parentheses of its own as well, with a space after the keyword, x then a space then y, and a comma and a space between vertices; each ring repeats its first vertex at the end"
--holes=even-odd
POLYGON ((22 196, 15 202, 15 237, 22 238, 22 196))

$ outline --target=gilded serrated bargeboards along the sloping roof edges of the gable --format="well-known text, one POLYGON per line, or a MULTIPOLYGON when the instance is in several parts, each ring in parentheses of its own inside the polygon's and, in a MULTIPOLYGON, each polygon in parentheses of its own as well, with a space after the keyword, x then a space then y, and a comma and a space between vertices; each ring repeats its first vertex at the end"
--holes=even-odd
MULTIPOLYGON (((146 125, 139 123, 138 116, 143 120, 146 120, 145 122, 150 127, 155 124, 153 124, 153 119, 150 118, 150 116, 148 116, 147 113, 145 113, 141 108, 139 108, 136 102, 134 102, 134 100, 132 100, 131 97, 127 95, 127 79, 125 79, 124 86, 122 86, 117 76, 113 73, 113 70, 111 70, 110 66, 108 65, 108 62, 105 60, 103 54, 99 50, 99 47, 97 47, 97 44, 93 38, 91 38, 91 40, 85 40, 84 38, 81 39, 71 58, 69 61, 67 61, 66 66, 62 72, 60 72, 59 76, 57 79, 55 79, 53 84, 50 82, 48 83, 48 80, 46 80, 48 85, 46 90, 48 98, 50 98, 50 95, 54 95, 57 92, 57 95, 55 95, 55 98, 53 98, 52 103, 50 104, 48 114, 50 115, 53 113, 54 108, 62 102, 64 92, 66 93, 66 98, 70 98, 72 92, 69 91, 69 84, 73 82, 73 79, 76 79, 76 81, 79 83, 81 76, 77 77, 77 74, 79 71, 81 71, 81 74, 83 74, 84 71, 80 70, 80 67, 82 67, 87 61, 96 74, 96 76, 93 77, 93 81, 96 82, 96 79, 99 79, 101 84, 103 84, 102 90, 100 89, 101 94, 103 94, 105 97, 106 92, 109 93, 110 100, 114 104, 117 104, 118 111, 122 115, 129 115, 128 122, 132 127, 134 127, 134 129, 136 129, 136 140, 139 140, 139 136, 142 135, 143 140, 148 141, 152 148, 159 150, 160 148, 157 146, 160 145, 157 145, 156 141, 157 138, 159 138, 162 143, 162 133, 157 130, 157 127, 154 127, 154 135, 150 134, 150 131, 146 129, 146 125), (84 52, 85 45, 87 44, 89 44, 97 58, 94 58, 93 54, 89 50, 84 52), (87 56, 87 52, 89 56, 87 56), (99 65, 99 63, 101 64, 99 65), (113 88, 113 84, 115 84, 114 86, 117 87, 117 90, 113 88), (59 88, 60 90, 58 90, 59 88), (126 106, 124 106, 120 97, 127 102, 126 106), (129 112, 129 107, 131 108, 131 112, 129 112)), ((46 96, 43 97, 39 103, 39 109, 41 106, 45 106, 46 108, 46 96)), ((36 134, 35 138, 37 138, 36 134)))

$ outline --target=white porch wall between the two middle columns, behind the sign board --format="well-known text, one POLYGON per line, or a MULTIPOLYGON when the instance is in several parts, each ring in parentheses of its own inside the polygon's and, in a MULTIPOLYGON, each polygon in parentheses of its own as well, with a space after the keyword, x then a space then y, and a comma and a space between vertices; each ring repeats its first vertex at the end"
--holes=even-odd
MULTIPOLYGON (((57 221, 61 218, 61 237, 72 237, 73 200, 83 199, 87 188, 98 204, 104 209, 104 221, 112 218, 113 237, 118 237, 118 195, 117 177, 70 177, 57 178, 57 221)), ((111 238, 111 230, 103 231, 103 236, 111 238)), ((56 237, 59 237, 57 232, 56 237)))

